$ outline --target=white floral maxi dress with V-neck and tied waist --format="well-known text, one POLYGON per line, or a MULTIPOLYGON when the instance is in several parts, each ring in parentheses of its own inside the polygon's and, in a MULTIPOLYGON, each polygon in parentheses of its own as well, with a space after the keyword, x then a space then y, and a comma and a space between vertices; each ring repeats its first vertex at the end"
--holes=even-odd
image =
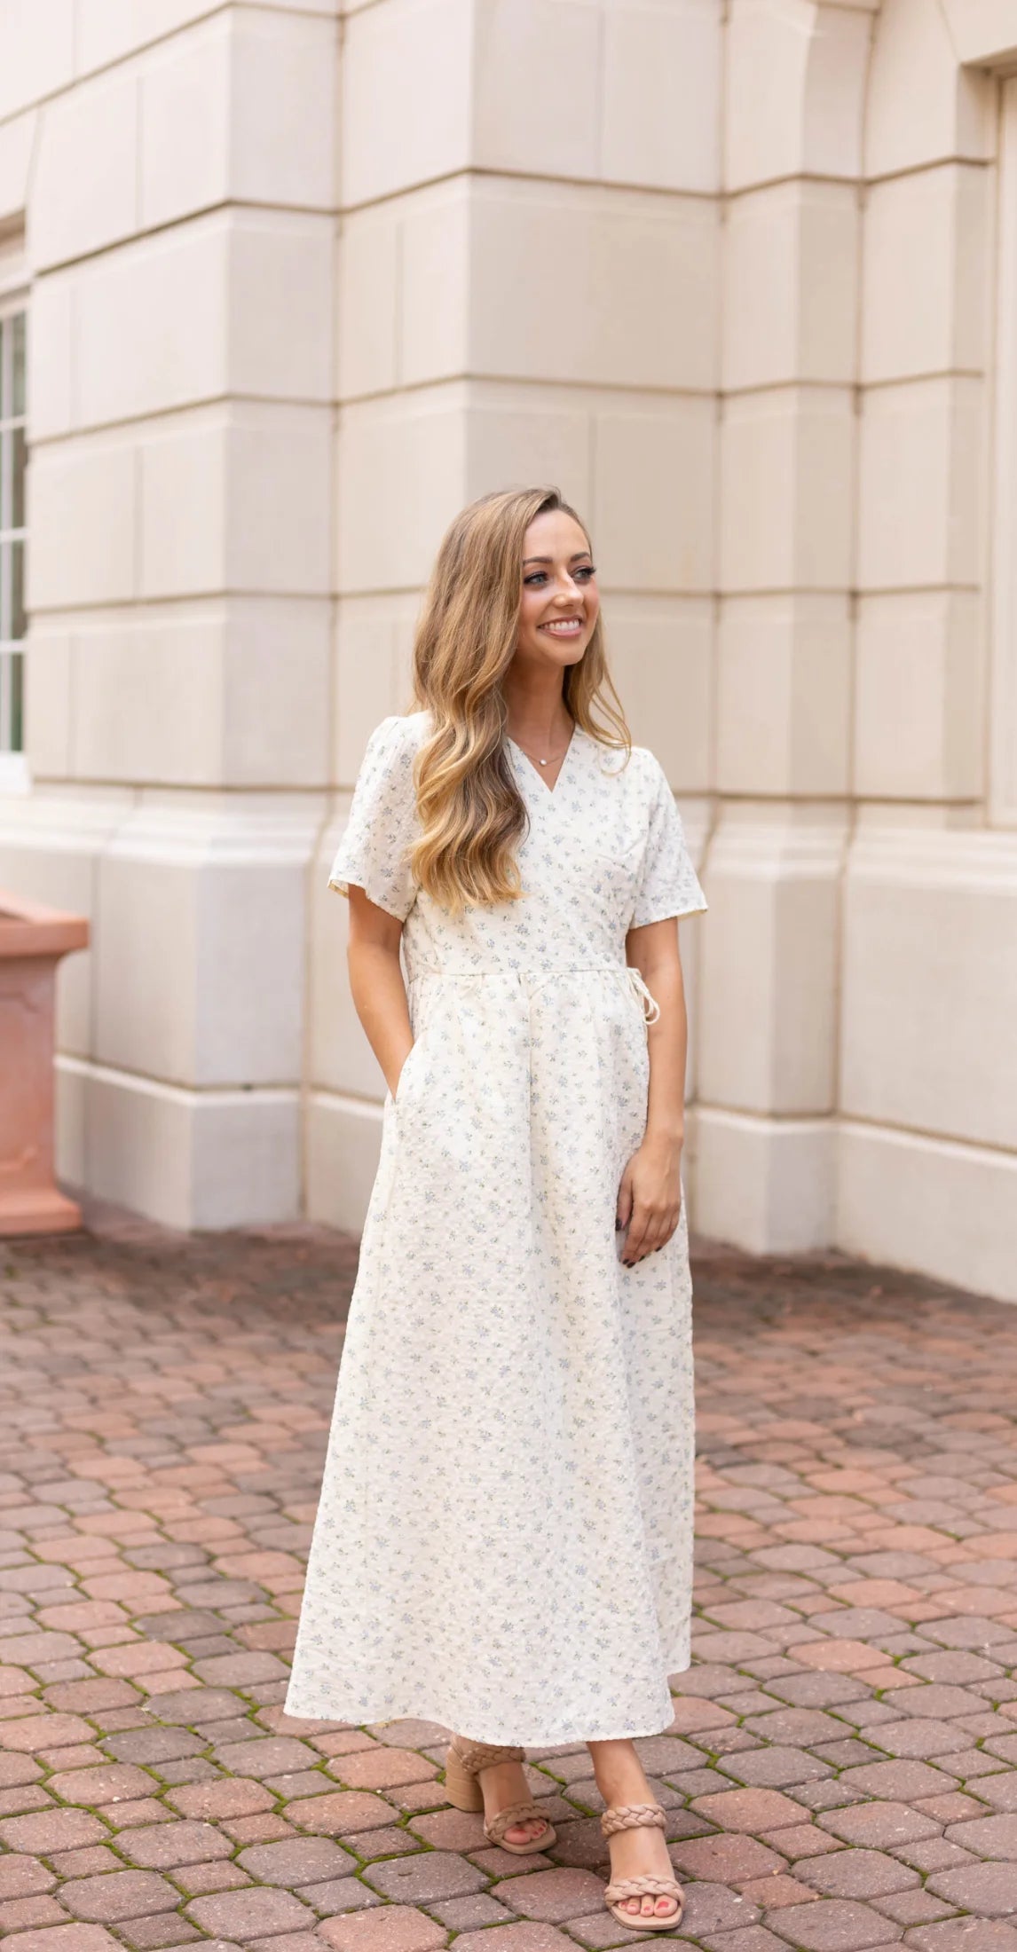
POLYGON ((406 865, 427 716, 373 732, 330 886, 404 921, 383 1115, 287 1714, 476 1741, 656 1733, 689 1665, 685 1202, 621 1261, 652 999, 631 927, 703 910, 660 763, 511 740, 525 900, 459 919, 406 865))

